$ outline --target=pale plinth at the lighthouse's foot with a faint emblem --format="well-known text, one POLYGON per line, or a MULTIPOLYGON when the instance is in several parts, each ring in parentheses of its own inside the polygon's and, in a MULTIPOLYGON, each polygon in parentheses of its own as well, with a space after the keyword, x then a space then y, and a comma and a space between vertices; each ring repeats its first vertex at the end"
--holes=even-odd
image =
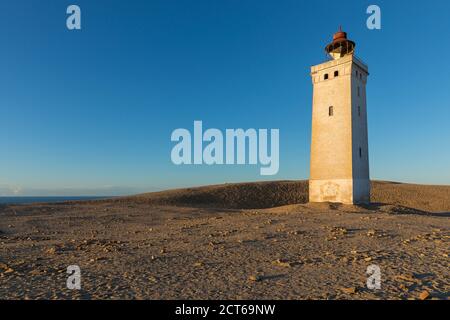
POLYGON ((370 202, 368 179, 309 180, 309 202, 370 202))

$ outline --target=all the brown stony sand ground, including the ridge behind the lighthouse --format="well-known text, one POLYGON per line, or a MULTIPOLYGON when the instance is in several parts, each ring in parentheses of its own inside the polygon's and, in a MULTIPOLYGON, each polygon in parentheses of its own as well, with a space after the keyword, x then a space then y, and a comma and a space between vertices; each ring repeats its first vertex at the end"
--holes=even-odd
POLYGON ((305 188, 1 207, 0 299, 448 299, 450 187, 379 182, 370 206, 235 208, 304 202, 305 188), (379 290, 366 286, 373 264, 379 290), (66 288, 69 265, 81 290, 66 288))

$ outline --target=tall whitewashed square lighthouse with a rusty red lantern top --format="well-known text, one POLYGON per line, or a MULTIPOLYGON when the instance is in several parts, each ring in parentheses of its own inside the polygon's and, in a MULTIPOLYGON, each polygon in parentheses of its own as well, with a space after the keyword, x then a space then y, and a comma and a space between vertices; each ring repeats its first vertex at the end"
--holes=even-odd
POLYGON ((311 67, 310 202, 370 202, 366 83, 368 66, 341 28, 311 67))

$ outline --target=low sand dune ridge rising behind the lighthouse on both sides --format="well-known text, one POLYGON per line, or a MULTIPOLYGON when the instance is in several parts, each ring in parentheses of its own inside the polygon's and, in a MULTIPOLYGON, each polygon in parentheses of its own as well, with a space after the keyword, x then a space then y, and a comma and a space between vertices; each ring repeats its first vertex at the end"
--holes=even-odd
MULTIPOLYGON (((450 186, 417 185, 373 181, 371 199, 427 212, 450 212, 450 186)), ((230 183, 197 188, 153 192, 121 201, 159 205, 261 209, 308 202, 308 181, 230 183)))

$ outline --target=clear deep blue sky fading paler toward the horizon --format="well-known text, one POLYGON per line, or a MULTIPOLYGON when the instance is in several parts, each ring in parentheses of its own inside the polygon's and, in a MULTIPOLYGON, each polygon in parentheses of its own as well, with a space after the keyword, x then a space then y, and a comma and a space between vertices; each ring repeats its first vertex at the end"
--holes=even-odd
POLYGON ((448 0, 3 0, 0 195, 307 179, 309 68, 339 25, 369 65, 371 178, 450 184, 448 0), (170 135, 194 120, 280 129, 278 174, 175 166, 170 135))

